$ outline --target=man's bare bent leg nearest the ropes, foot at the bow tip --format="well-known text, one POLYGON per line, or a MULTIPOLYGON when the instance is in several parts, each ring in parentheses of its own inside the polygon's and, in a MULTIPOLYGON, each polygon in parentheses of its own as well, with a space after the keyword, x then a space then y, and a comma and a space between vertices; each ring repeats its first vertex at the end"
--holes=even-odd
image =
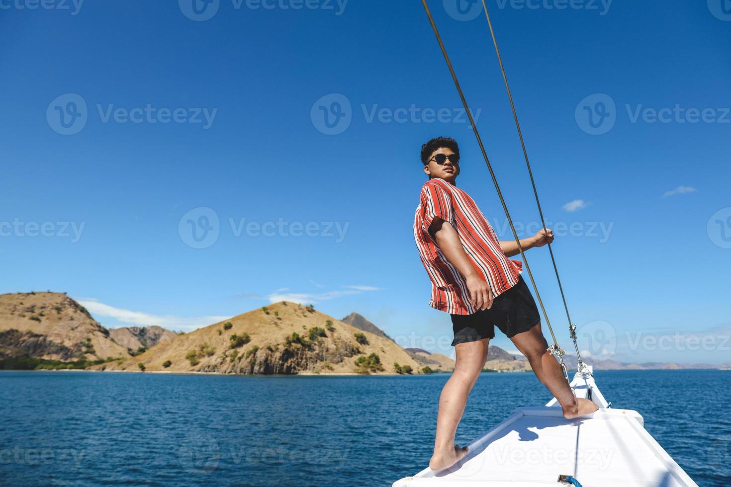
POLYGON ((599 409, 594 402, 588 399, 577 399, 574 396, 566 382, 561 365, 547 350, 548 342, 543 337, 540 323, 528 331, 516 334, 510 340, 520 350, 520 353, 528 358, 538 380, 558 399, 558 404, 561 404, 561 409, 564 410, 564 418, 576 418, 580 415, 594 413, 599 409))

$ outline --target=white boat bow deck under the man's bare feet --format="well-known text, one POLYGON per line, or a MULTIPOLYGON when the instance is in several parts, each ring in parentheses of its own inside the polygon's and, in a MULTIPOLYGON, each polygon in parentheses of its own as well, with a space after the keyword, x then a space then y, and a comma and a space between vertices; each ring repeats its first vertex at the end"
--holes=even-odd
POLYGON ((580 374, 572 387, 600 409, 586 418, 564 419, 555 399, 543 407, 520 407, 490 432, 469 443, 469 454, 453 467, 428 467, 394 487, 565 486, 571 475, 583 487, 696 486, 643 427, 632 410, 607 407, 593 377, 580 374))

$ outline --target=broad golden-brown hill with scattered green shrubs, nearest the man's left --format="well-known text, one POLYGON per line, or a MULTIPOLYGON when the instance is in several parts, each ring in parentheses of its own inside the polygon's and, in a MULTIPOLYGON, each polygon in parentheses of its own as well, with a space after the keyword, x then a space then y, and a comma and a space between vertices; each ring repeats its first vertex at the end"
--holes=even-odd
POLYGON ((393 374, 394 362, 412 367, 414 373, 422 367, 385 337, 300 304, 279 302, 177 335, 133 358, 92 369, 139 371, 139 364, 143 364, 148 371, 169 372, 343 374, 367 369, 393 374), (359 342, 356 334, 366 340, 359 342), (378 356, 383 370, 356 365, 356 360, 363 357, 360 361, 367 361, 371 353, 378 356))

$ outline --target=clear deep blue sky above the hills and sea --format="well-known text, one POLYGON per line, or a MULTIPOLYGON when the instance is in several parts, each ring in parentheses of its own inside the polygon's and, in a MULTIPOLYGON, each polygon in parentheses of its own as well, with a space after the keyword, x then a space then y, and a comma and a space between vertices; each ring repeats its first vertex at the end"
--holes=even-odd
MULTIPOLYGON (((450 353, 412 237, 426 139, 458 139, 458 185, 510 234, 420 2, 197 1, 1 3, 0 292, 173 329, 291 299, 450 353)), ((429 4, 523 237, 525 163, 462 1, 429 4)), ((582 348, 731 361, 731 6, 490 5, 582 348)), ((565 340, 548 250, 529 259, 565 340)))

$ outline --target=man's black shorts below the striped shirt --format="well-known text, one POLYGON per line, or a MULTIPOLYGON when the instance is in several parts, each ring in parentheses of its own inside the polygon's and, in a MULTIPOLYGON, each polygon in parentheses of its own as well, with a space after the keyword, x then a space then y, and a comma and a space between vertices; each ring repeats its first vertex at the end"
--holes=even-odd
POLYGON ((523 277, 518 283, 493 300, 489 310, 471 315, 452 315, 452 330, 458 343, 477 342, 483 338, 495 338, 497 326, 508 338, 536 326, 541 322, 538 307, 523 277))

